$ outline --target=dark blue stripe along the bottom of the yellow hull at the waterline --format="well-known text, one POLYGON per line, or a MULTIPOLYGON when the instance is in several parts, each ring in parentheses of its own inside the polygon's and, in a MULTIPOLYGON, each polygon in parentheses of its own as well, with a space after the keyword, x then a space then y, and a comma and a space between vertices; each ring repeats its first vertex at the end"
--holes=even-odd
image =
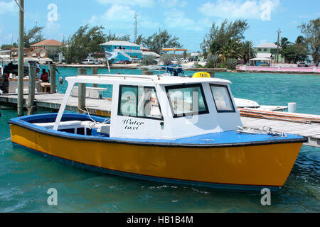
POLYGON ((121 177, 129 177, 129 178, 135 178, 135 179, 142 179, 142 180, 150 180, 155 182, 164 182, 169 184, 184 184, 184 185, 193 185, 196 187, 210 187, 214 189, 224 189, 224 190, 237 190, 242 192, 260 192, 263 188, 268 188, 272 192, 277 192, 281 187, 276 186, 260 186, 260 185, 245 185, 245 184, 219 184, 219 183, 208 183, 208 182, 194 182, 191 180, 182 180, 182 179, 171 179, 171 178, 164 178, 164 177, 152 177, 147 175, 137 175, 134 173, 129 172, 122 172, 117 170, 109 170, 102 167, 97 167, 94 165, 87 165, 80 162, 75 162, 73 160, 67 160, 62 157, 57 157, 54 155, 49 155, 47 153, 43 153, 38 150, 34 150, 31 148, 28 148, 26 146, 20 145, 18 143, 13 143, 15 148, 23 148, 28 150, 31 153, 34 153, 36 155, 41 155, 43 157, 47 157, 50 160, 58 161, 66 165, 71 165, 74 167, 78 167, 85 170, 91 170, 93 172, 101 172, 109 175, 117 175, 121 177))

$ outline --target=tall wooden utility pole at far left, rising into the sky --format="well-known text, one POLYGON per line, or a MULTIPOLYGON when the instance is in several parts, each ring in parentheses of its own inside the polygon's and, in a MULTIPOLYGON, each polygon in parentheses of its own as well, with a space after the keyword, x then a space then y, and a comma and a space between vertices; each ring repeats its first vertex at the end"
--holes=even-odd
POLYGON ((23 23, 24 23, 24 0, 20 0, 19 3, 16 0, 16 4, 19 6, 19 39, 18 39, 18 116, 23 116, 23 23))

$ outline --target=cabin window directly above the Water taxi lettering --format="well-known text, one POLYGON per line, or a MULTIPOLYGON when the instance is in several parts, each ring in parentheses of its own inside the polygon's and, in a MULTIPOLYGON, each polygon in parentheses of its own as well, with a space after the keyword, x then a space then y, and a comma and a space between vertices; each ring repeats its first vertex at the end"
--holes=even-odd
POLYGON ((156 89, 154 87, 120 85, 118 114, 163 120, 156 89))

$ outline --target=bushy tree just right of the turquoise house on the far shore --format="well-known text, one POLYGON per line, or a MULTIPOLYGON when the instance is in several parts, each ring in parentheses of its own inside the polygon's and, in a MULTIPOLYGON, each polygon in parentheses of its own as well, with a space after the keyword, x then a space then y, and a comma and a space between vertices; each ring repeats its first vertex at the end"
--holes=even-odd
POLYGON ((156 52, 159 55, 161 54, 162 48, 182 48, 182 45, 179 43, 179 38, 172 36, 168 31, 159 31, 159 33, 154 33, 148 38, 142 40, 142 45, 149 48, 150 51, 156 52))

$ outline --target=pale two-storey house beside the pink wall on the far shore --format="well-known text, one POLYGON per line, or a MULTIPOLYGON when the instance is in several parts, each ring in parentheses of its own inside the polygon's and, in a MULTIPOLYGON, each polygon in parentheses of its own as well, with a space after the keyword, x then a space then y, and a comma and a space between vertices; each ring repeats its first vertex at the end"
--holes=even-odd
MULTIPOLYGON (((251 65, 267 65, 277 63, 277 45, 274 43, 262 43, 255 48, 256 57, 251 59, 251 65)), ((281 47, 279 47, 279 52, 281 47)), ((279 63, 284 63, 284 57, 279 53, 279 63)))

